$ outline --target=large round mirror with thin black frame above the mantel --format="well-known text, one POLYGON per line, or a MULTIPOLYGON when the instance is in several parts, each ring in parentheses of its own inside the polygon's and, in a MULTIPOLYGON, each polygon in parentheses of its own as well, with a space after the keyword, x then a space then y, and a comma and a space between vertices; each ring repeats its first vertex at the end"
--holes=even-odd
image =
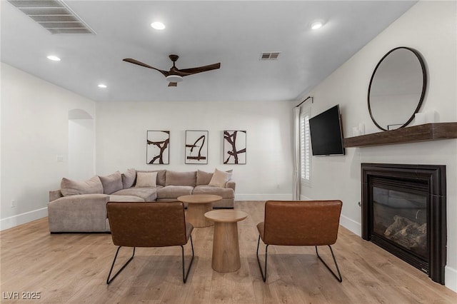
POLYGON ((426 93, 424 61, 406 46, 388 51, 378 62, 368 86, 368 111, 383 131, 403 128, 421 108, 426 93))

